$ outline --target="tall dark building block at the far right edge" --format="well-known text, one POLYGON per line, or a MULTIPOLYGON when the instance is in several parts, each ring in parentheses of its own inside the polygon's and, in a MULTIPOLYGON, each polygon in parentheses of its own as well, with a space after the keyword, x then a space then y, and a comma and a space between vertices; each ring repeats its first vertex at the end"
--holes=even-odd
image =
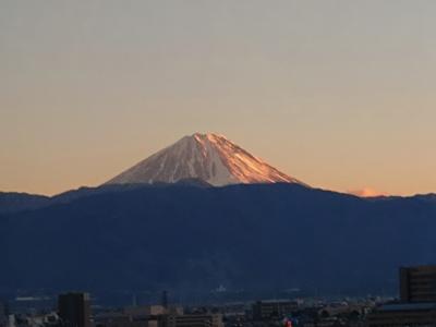
POLYGON ((400 268, 400 299, 403 302, 436 302, 436 266, 400 268))

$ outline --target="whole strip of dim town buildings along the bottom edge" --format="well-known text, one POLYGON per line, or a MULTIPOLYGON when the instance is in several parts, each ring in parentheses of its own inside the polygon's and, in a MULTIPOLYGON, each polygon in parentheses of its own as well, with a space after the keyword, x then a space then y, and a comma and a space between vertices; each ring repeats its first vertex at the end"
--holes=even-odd
MULTIPOLYGON (((133 298, 131 305, 113 307, 95 305, 92 294, 74 291, 59 294, 55 307, 2 301, 0 327, 436 326, 436 266, 401 267, 398 292, 398 299, 289 298, 183 305, 162 291, 159 303, 142 305, 133 298)), ((35 299, 15 302, 26 300, 35 299)))

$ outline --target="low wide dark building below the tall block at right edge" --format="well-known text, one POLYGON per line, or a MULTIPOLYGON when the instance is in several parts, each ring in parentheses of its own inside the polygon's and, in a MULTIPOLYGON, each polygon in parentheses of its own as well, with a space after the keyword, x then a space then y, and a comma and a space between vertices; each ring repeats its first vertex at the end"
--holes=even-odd
POLYGON ((368 327, 434 327, 436 303, 395 303, 377 307, 367 316, 368 327))

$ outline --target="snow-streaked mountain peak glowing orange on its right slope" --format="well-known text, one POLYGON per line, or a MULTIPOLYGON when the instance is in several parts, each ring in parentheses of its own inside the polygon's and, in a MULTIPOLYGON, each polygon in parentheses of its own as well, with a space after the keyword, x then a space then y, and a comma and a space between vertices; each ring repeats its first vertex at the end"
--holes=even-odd
POLYGON ((215 186, 240 183, 300 183, 222 135, 195 133, 154 154, 106 184, 175 183, 199 179, 215 186))

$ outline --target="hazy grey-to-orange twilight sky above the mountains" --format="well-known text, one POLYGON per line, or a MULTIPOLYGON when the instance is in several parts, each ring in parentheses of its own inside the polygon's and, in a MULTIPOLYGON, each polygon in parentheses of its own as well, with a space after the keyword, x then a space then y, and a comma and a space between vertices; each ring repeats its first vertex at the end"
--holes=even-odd
POLYGON ((1 0, 0 190, 225 134, 315 186, 436 192, 436 1, 1 0))

